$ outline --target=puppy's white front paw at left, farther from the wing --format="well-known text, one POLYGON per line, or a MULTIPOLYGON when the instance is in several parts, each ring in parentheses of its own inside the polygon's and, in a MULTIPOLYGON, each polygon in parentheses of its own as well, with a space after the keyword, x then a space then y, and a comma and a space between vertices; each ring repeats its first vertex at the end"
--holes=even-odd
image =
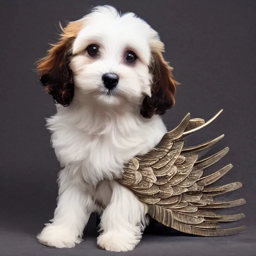
POLYGON ((37 235, 37 239, 40 243, 55 248, 71 248, 82 240, 70 228, 53 223, 47 224, 37 235))

